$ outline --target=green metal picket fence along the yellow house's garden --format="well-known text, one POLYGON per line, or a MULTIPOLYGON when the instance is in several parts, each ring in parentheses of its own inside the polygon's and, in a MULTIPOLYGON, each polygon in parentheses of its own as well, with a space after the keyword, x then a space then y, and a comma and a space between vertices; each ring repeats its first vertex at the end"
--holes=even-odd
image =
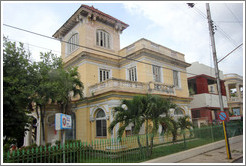
MULTIPOLYGON (((228 137, 243 134, 243 123, 227 125, 228 137)), ((150 144, 148 135, 148 143, 150 144)), ((162 155, 177 152, 177 146, 186 150, 194 146, 224 139, 222 125, 196 128, 183 133, 178 132, 176 142, 172 142, 172 135, 156 135, 154 137, 153 154, 166 150, 162 155), (188 146, 183 146, 188 144, 188 146), (175 146, 174 146, 175 145, 175 146), (185 148, 183 148, 185 147, 185 148)), ((146 147, 146 135, 130 136, 122 139, 95 140, 90 143, 74 141, 65 146, 40 146, 16 151, 4 152, 4 163, 124 163, 139 162, 148 159, 143 151, 146 147), (139 148, 140 142, 142 148, 139 148)), ((158 154, 159 155, 159 154, 158 154)), ((154 154, 155 156, 155 154, 154 154)))

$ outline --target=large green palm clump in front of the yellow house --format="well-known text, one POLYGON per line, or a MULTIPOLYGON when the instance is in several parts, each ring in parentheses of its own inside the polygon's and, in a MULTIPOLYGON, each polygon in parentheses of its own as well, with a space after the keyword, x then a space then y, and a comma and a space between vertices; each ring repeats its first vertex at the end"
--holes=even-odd
MULTIPOLYGON (((125 128, 133 123, 134 134, 138 134, 142 124, 145 122, 146 134, 146 154, 151 156, 153 149, 154 135, 157 133, 159 124, 163 117, 161 115, 168 114, 170 108, 175 108, 176 105, 171 103, 170 100, 164 99, 160 96, 135 96, 132 100, 123 100, 119 107, 115 107, 115 118, 109 126, 109 132, 113 130, 114 126, 121 123, 118 130, 118 137, 122 137, 125 128), (127 109, 124 109, 125 106, 127 109), (149 129, 149 122, 152 121, 152 130, 149 129), (149 150, 149 133, 151 133, 150 150, 149 150)), ((142 151, 142 145, 138 136, 138 145, 142 151)))

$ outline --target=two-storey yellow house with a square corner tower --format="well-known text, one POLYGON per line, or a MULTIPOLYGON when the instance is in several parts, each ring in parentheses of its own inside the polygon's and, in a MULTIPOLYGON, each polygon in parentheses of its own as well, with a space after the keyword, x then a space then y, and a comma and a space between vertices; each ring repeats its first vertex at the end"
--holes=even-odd
POLYGON ((65 66, 78 66, 84 84, 84 99, 73 108, 76 133, 71 134, 78 140, 115 137, 118 126, 112 133, 107 130, 113 108, 139 94, 170 97, 180 106, 170 110, 174 118, 191 116, 186 76, 190 64, 184 54, 143 38, 120 49, 120 34, 127 27, 93 6, 81 5, 53 35, 65 41, 65 66))

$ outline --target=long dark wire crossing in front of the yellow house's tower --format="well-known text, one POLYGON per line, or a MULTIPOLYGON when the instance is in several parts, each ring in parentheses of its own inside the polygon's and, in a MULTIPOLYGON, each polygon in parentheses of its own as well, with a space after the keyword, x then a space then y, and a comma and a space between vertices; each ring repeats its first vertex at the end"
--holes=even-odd
MULTIPOLYGON (((131 60, 131 61, 135 61, 135 62, 139 62, 139 63, 142 63, 142 64, 153 66, 153 64, 148 63, 148 62, 143 62, 143 61, 136 60, 136 59, 129 58, 129 57, 122 57, 122 56, 119 56, 119 55, 116 55, 116 54, 104 52, 104 51, 97 50, 97 49, 94 49, 94 48, 82 46, 82 45, 79 45, 79 44, 70 43, 70 42, 67 42, 67 41, 64 41, 64 40, 61 40, 61 39, 56 39, 56 38, 53 38, 53 37, 49 37, 47 35, 43 35, 43 34, 40 34, 40 33, 32 32, 32 31, 25 30, 25 29, 22 29, 22 28, 18 28, 18 27, 15 27, 15 26, 11 26, 11 25, 8 25, 8 24, 3 24, 3 25, 7 26, 7 27, 10 27, 10 28, 13 28, 13 29, 24 31, 24 32, 27 32, 27 33, 35 34, 35 35, 38 35, 38 36, 41 36, 41 37, 45 37, 45 38, 48 38, 48 39, 52 39, 52 40, 64 42, 64 43, 67 43, 67 44, 72 44, 72 45, 75 45, 75 46, 78 46, 78 47, 81 47, 81 48, 86 48, 86 49, 90 49, 90 50, 93 50, 93 51, 98 51, 98 52, 101 52, 101 53, 109 54, 109 55, 112 55, 112 56, 115 56, 115 57, 118 57, 118 58, 121 58, 121 59, 127 59, 127 60, 131 60)), ((167 70, 172 70, 173 71, 173 69, 170 69, 170 68, 167 68, 167 67, 163 67, 163 66, 160 66, 160 67, 163 68, 163 69, 167 69, 167 70)), ((197 74, 188 73, 188 72, 184 72, 184 71, 179 71, 179 72, 185 73, 185 74, 190 74, 190 75, 195 75, 195 76, 197 75, 197 74)))

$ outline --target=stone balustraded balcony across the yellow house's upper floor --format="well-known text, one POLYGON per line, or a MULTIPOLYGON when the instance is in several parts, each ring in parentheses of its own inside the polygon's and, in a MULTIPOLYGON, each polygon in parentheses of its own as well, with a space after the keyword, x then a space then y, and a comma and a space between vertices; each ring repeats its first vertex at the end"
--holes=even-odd
POLYGON ((143 83, 134 82, 122 79, 112 78, 104 82, 92 85, 89 87, 89 95, 99 95, 102 93, 118 91, 118 92, 130 92, 140 94, 159 94, 159 95, 171 95, 175 96, 175 88, 173 85, 166 85, 163 83, 143 83))

